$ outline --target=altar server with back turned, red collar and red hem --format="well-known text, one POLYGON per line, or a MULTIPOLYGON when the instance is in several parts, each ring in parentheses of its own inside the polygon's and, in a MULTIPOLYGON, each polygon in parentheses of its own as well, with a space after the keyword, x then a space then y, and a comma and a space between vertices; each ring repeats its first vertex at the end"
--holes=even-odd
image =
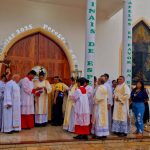
POLYGON ((90 108, 89 100, 84 87, 85 79, 78 79, 78 89, 72 96, 75 102, 75 139, 88 139, 90 134, 90 108))

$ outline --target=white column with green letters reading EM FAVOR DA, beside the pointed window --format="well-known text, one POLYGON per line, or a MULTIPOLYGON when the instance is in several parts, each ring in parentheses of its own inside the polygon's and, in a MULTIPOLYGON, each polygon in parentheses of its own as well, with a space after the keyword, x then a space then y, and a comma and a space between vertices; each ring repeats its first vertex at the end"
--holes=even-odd
POLYGON ((132 84, 132 0, 124 0, 122 75, 129 87, 132 84))

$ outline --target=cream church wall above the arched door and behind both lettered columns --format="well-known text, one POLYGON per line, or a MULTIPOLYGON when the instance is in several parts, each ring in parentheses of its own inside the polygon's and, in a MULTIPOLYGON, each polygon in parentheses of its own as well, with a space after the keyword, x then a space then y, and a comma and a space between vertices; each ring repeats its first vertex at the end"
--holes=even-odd
MULTIPOLYGON (((144 17, 150 21, 150 0, 133 0, 133 21, 144 17)), ((110 8, 111 9, 111 8, 110 8)), ((1 0, 0 40, 27 24, 48 24, 63 34, 84 67, 85 10, 26 0, 1 0)), ((96 75, 105 72, 111 79, 119 75, 119 49, 122 42, 122 10, 109 20, 97 19, 96 75)))

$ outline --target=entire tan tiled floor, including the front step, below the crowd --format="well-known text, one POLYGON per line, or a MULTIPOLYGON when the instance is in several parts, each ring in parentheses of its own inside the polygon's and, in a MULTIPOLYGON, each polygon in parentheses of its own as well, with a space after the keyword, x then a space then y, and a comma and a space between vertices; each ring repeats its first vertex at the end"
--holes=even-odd
MULTIPOLYGON (((132 132, 135 128, 132 127, 132 132)), ((150 150, 150 132, 145 132, 143 140, 135 135, 120 139, 111 135, 105 141, 78 142, 73 134, 62 127, 48 125, 43 128, 23 130, 20 133, 0 133, 0 149, 4 150, 150 150)))

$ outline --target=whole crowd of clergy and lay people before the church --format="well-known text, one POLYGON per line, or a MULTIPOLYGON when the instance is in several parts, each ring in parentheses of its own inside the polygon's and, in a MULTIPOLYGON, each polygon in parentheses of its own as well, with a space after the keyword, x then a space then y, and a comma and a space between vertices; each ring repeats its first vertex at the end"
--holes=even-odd
POLYGON ((0 129, 4 133, 46 126, 62 126, 75 133, 75 139, 105 139, 110 134, 126 137, 130 133, 130 109, 134 113, 136 135, 143 136, 144 123, 149 120, 148 93, 138 81, 130 90, 124 76, 112 82, 109 75, 94 77, 93 86, 84 77, 71 78, 68 87, 54 77, 54 84, 46 80, 40 70, 31 70, 20 79, 15 74, 0 81, 0 129))

